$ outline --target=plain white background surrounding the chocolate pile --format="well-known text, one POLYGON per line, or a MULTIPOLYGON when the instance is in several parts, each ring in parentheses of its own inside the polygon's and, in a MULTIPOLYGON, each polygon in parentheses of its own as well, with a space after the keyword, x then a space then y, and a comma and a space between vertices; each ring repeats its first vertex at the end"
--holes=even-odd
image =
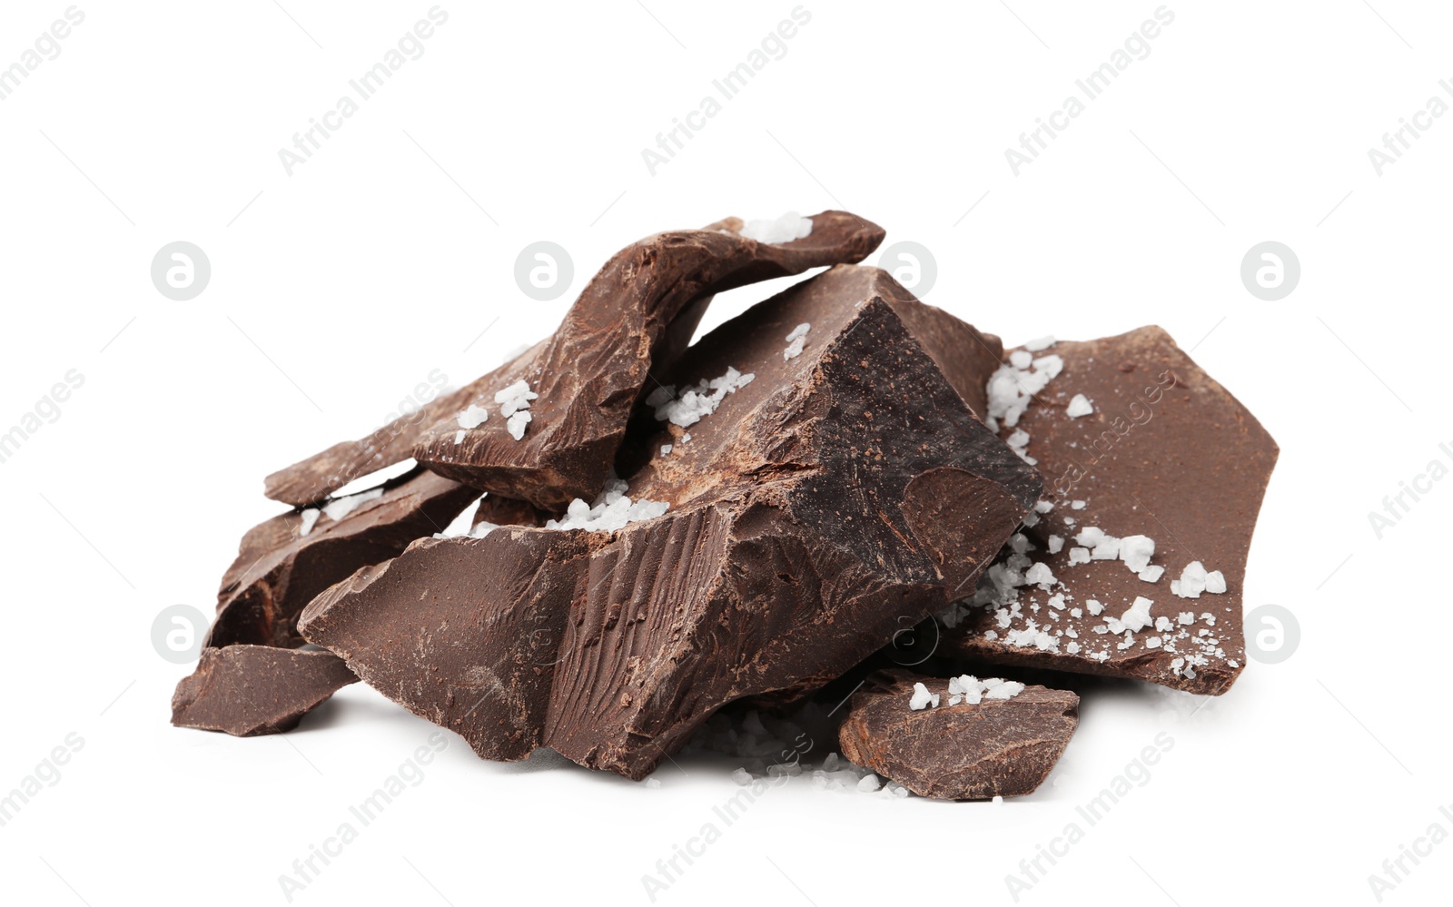
MULTIPOLYGON (((641 150, 793 3, 647 6, 445 3, 424 55, 292 176, 278 150, 427 0, 83 3, 0 102, 0 424, 86 379, 0 464, 0 789, 84 740, 0 829, 3 900, 285 903, 278 876, 433 728, 362 685, 289 735, 167 724, 189 667, 155 654, 153 618, 211 610, 243 531, 278 512, 262 477, 382 423, 432 369, 462 384, 546 334, 574 292, 517 289, 530 241, 570 250, 578 291, 658 230, 841 206, 928 247, 926 298, 1008 344, 1158 323, 1194 346, 1282 445, 1247 608, 1290 608, 1300 648, 1205 705, 1104 686, 1058 783, 1021 801, 774 789, 657 903, 1013 903, 1005 875, 1162 731, 1149 782, 1020 903, 1375 903, 1401 844, 1453 831, 1453 481, 1380 541, 1367 520, 1450 462, 1453 116, 1382 176, 1367 157, 1453 78, 1447 9, 1173 3, 1149 57, 1014 176, 1004 150, 1154 0, 809 1, 786 57, 652 176, 641 150), (211 257, 189 302, 148 276, 173 240, 211 257), (1300 257, 1277 302, 1239 281, 1261 240, 1300 257)), ((6 3, 0 65, 65 7, 6 3)), ((294 903, 644 904, 641 876, 735 794, 731 767, 667 765, 647 789, 452 738, 294 903)), ((1443 903, 1450 862, 1436 846, 1385 903, 1443 903)))

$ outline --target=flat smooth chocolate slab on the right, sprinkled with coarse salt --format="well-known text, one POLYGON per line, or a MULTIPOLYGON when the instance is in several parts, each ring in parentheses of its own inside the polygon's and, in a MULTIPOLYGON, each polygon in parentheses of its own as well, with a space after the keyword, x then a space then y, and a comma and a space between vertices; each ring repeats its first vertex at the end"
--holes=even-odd
MULTIPOLYGON (((1035 355, 1064 371, 1003 435, 1027 433, 1053 510, 1024 529, 1033 548, 1005 551, 981 580, 976 606, 947 615, 939 654, 1226 692, 1245 666, 1242 577, 1276 442, 1158 327, 1035 355), (1098 552, 1096 531, 1112 536, 1098 552), (1154 541, 1145 579, 1132 536, 1154 541), (1193 563, 1225 592, 1212 577, 1197 597, 1174 594, 1193 563)), ((1191 568, 1186 592, 1200 583, 1191 568)))

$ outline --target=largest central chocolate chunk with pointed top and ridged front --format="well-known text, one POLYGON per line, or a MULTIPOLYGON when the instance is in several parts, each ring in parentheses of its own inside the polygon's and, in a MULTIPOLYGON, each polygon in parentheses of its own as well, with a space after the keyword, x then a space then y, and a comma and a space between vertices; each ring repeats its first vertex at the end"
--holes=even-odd
POLYGON ((440 706, 439 690, 479 690, 479 708, 510 719, 446 724, 491 734, 471 737, 477 751, 519 753, 538 740, 629 778, 645 776, 726 702, 831 680, 962 593, 1040 491, 1035 469, 984 427, 905 328, 898 313, 915 307, 866 267, 833 269, 754 307, 661 376, 684 387, 735 368, 753 379, 734 381, 700 420, 655 422, 631 442, 671 445, 631 480, 638 504, 670 504, 664 516, 613 536, 497 529, 423 542, 389 567, 408 567, 407 579, 376 597, 375 584, 330 592, 308 608, 304 634, 365 679, 388 677, 385 695, 442 724, 475 704, 440 706), (811 323, 802 352, 785 356, 785 337, 802 323, 811 323), (551 589, 568 594, 568 609, 541 602, 564 618, 558 650, 545 653, 526 632, 536 599, 510 577, 535 576, 538 539, 551 535, 580 536, 586 548, 568 557, 546 548, 567 567, 551 589), (430 567, 455 557, 471 565, 430 567), (421 638, 402 625, 366 629, 369 613, 407 621, 445 573, 461 581, 445 612, 429 612, 426 658, 414 663, 421 638), (357 635, 330 629, 344 625, 357 635), (484 685, 471 673, 501 663, 536 666, 523 676, 527 693, 519 676, 484 685))

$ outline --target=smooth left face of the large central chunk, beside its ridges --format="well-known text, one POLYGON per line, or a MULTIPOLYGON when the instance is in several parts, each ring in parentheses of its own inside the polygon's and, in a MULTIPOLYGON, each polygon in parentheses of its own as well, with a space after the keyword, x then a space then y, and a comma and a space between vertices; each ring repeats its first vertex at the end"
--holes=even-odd
POLYGON ((500 528, 420 539, 320 594, 299 631, 484 759, 541 744, 556 650, 584 596, 587 532, 500 528))

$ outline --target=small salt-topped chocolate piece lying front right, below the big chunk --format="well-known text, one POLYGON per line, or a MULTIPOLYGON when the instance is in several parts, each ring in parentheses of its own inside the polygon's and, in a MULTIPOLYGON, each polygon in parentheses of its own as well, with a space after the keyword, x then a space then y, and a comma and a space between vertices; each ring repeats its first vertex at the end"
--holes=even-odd
POLYGON ((920 797, 1023 797, 1055 767, 1080 721, 1080 696, 1043 686, 975 705, 950 699, 947 680, 905 670, 872 674, 838 730, 843 754, 920 797), (910 708, 914 683, 939 705, 910 708))

